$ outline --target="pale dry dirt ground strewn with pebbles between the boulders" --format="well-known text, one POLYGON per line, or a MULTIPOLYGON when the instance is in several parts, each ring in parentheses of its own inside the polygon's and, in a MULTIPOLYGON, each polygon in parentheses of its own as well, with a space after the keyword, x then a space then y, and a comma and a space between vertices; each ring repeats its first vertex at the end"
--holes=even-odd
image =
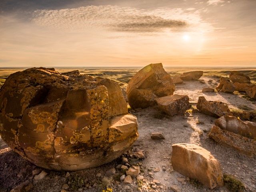
MULTIPOLYGON (((219 78, 203 76, 201 79, 206 83, 185 81, 184 84, 176 85, 175 94, 188 95, 192 106, 195 106, 198 96, 205 96, 206 100, 226 102, 230 108, 256 110, 256 102, 244 98, 238 92, 234 94, 202 93, 201 90, 205 86, 215 88, 219 78), (208 83, 209 79, 212 79, 213 82, 208 83)), ((186 180, 184 176, 173 171, 170 160, 172 144, 176 143, 190 143, 206 148, 220 162, 224 173, 231 174, 242 181, 246 186, 246 191, 256 191, 256 157, 248 158, 231 148, 214 142, 207 136, 216 118, 198 112, 194 112, 188 117, 177 115, 156 118, 156 114, 159 114, 159 112, 155 107, 130 110, 130 113, 138 119, 139 138, 134 143, 132 150, 123 156, 128 158, 129 165, 141 166, 141 175, 144 176, 142 182, 138 183, 135 180, 132 184, 120 182, 119 178, 122 175, 122 170, 118 168, 116 168, 115 174, 107 173, 110 168, 115 168, 122 163, 121 157, 97 168, 70 172, 69 177, 66 177, 67 172, 44 170, 48 175, 37 182, 32 177, 32 170, 40 169, 41 171, 43 169, 22 159, 0 140, 0 192, 8 192, 26 180, 33 184, 33 187, 29 190, 31 192, 60 192, 63 184, 68 184, 68 181, 70 181, 69 178, 78 181, 81 179, 83 184, 78 189, 68 188, 66 191, 98 192, 109 186, 115 192, 172 192, 172 188, 175 186, 177 192, 228 192, 225 186, 210 190, 204 186, 196 185, 188 181, 188 178, 186 180), (162 132, 165 139, 152 140, 150 138, 152 132, 162 132), (138 150, 144 152, 144 159, 139 160, 132 156, 138 150), (159 184, 156 186, 156 182, 153 180, 159 180, 159 184)))

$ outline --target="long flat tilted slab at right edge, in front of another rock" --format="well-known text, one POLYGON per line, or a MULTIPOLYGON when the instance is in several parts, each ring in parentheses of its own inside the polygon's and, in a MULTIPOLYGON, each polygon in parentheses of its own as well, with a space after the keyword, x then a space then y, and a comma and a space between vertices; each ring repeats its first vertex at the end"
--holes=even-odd
POLYGON ((208 136, 216 142, 233 148, 234 150, 237 150, 238 152, 247 156, 252 157, 256 155, 256 140, 235 134, 227 130, 222 130, 215 125, 212 126, 208 136))

